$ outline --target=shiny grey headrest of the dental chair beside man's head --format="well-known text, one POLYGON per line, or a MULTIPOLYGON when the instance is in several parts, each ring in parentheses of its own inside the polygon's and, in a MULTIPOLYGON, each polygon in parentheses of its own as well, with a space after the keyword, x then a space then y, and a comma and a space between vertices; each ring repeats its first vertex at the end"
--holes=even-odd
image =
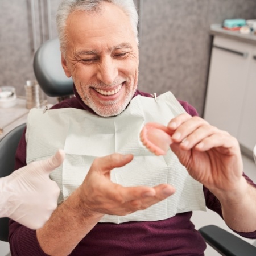
POLYGON ((59 39, 44 42, 36 51, 33 68, 36 80, 50 97, 73 94, 73 79, 65 75, 61 65, 59 39))

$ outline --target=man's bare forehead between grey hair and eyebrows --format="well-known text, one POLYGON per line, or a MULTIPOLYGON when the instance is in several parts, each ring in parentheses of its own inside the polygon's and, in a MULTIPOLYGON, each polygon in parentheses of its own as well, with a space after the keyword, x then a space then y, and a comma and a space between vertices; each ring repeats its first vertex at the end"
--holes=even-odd
POLYGON ((97 11, 73 11, 67 19, 69 46, 113 47, 136 43, 129 17, 119 7, 104 2, 97 11))

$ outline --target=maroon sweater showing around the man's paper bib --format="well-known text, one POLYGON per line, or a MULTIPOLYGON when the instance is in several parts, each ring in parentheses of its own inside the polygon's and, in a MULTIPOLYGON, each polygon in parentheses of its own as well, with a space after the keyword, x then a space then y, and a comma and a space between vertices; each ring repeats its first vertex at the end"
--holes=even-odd
MULTIPOLYGON (((79 95, 65 100, 53 106, 58 108, 85 109, 93 113, 86 106, 79 95)), ((137 91, 135 96, 151 97, 150 94, 137 91)), ((180 101, 187 113, 197 115, 196 110, 180 101)), ((16 152, 16 169, 26 165, 26 141, 23 137, 16 152)), ((249 180, 245 176, 249 183, 249 180)), ((255 185, 255 184, 253 184, 255 185)), ((256 185, 255 185, 256 187, 256 185)), ((204 195, 207 207, 214 210, 220 216, 221 206, 218 199, 204 187, 204 195)), ((190 221, 192 212, 176 214, 172 218, 160 221, 126 222, 123 224, 98 223, 78 243, 70 255, 204 255, 206 248, 201 234, 190 221)), ((26 228, 18 222, 10 220, 9 242, 13 256, 46 256, 39 246, 35 230, 26 228)), ((256 238, 256 231, 240 233, 247 238, 256 238)))

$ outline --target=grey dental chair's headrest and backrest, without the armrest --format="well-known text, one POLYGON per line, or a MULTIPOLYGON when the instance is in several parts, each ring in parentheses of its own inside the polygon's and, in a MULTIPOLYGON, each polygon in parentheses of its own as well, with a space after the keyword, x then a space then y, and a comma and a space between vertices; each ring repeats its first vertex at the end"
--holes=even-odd
MULTIPOLYGON (((51 39, 38 48, 33 68, 36 80, 43 92, 58 101, 73 97, 73 80, 68 78, 61 66, 59 39, 51 39)), ((0 177, 14 171, 15 153, 26 124, 16 127, 0 141, 0 177)), ((9 218, 0 218, 0 240, 8 242, 9 218)))

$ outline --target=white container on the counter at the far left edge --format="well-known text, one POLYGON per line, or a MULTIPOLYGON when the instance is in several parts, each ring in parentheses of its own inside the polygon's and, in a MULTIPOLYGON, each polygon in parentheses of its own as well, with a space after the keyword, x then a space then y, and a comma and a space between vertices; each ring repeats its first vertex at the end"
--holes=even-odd
POLYGON ((0 108, 11 108, 17 104, 16 90, 13 86, 0 87, 0 108))

